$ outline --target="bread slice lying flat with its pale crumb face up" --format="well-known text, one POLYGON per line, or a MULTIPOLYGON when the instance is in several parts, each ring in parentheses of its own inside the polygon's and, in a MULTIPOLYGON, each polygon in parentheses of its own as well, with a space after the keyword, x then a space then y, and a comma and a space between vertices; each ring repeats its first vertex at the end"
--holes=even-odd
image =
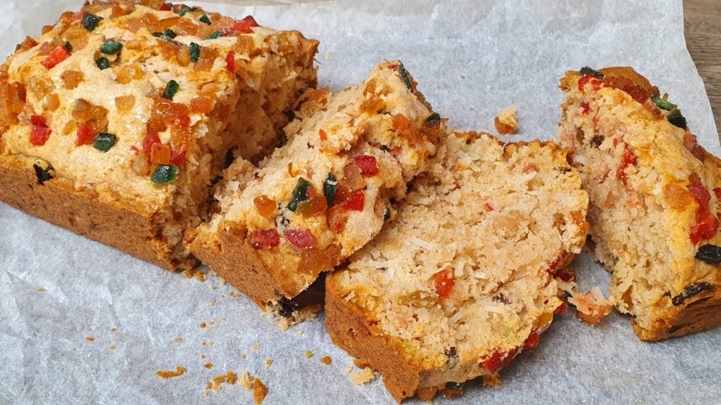
POLYGON ((397 401, 494 375, 565 311, 588 196, 568 151, 451 133, 394 221, 326 279, 333 342, 397 401))

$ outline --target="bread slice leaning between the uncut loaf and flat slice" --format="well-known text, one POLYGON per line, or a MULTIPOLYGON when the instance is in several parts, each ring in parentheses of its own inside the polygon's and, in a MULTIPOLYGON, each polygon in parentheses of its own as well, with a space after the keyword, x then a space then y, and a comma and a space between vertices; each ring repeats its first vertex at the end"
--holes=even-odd
POLYGON ((286 305, 275 307, 286 316, 288 300, 376 236, 443 125, 398 61, 306 98, 288 144, 252 172, 231 166, 219 213, 188 241, 231 285, 262 308, 286 305))

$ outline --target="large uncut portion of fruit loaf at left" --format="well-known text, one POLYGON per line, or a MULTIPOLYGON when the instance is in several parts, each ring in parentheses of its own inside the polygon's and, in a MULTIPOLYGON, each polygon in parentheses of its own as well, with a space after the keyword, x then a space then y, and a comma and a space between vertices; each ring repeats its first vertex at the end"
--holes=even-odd
POLYGON ((96 1, 0 68, 0 200, 168 269, 226 154, 274 146, 318 43, 200 8, 96 1))

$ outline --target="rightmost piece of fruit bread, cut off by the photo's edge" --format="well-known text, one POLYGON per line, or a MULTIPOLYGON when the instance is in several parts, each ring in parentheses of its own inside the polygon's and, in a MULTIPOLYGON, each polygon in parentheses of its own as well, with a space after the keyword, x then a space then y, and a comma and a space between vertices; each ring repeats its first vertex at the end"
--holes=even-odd
POLYGON ((611 301, 642 340, 721 324, 721 161, 632 68, 570 71, 560 87, 559 136, 590 196, 611 301))

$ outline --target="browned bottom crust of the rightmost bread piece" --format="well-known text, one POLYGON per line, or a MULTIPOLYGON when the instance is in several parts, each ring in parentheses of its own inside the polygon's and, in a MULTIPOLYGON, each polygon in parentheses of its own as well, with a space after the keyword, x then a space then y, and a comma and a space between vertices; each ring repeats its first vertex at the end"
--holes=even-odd
POLYGON ((642 329, 632 319, 636 336, 645 341, 681 337, 721 325, 721 287, 715 291, 698 295, 695 301, 686 303, 681 311, 669 313, 667 318, 657 319, 653 329, 642 329))

